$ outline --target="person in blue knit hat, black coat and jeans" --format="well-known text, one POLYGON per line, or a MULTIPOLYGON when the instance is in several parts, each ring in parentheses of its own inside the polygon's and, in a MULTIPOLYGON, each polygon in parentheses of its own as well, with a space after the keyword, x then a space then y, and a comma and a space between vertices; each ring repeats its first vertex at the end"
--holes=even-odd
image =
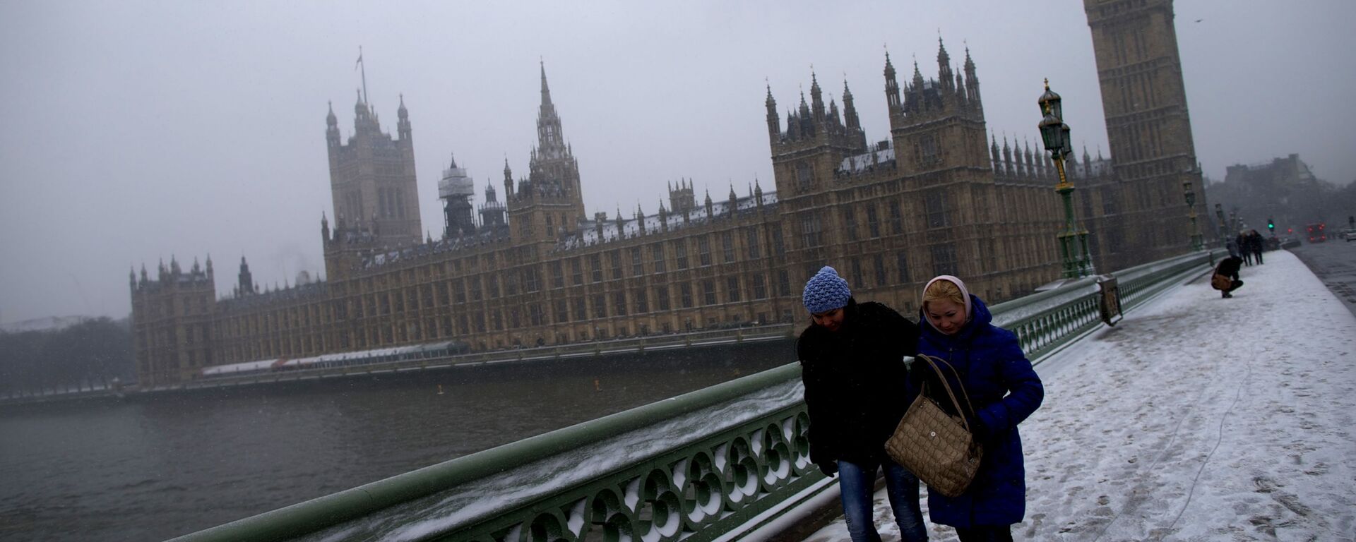
POLYGON ((885 440, 913 402, 904 356, 918 351, 918 325, 885 305, 858 304, 829 266, 805 283, 801 298, 811 316, 796 341, 810 461, 824 476, 838 474, 853 542, 880 541, 872 509, 880 470, 902 539, 926 541, 918 477, 885 454, 885 440))

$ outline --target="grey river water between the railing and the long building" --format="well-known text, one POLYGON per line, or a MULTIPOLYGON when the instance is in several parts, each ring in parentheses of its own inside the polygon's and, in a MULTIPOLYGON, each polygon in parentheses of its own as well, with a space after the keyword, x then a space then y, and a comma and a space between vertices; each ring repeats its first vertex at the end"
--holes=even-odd
POLYGON ((793 360, 778 341, 5 406, 0 541, 172 538, 793 360))

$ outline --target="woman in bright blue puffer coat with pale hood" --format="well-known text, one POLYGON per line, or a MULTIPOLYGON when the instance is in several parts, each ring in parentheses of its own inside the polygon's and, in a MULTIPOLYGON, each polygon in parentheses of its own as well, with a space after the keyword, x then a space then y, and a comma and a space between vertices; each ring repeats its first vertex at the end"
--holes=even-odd
MULTIPOLYGON (((961 542, 1012 541, 1012 524, 1026 515, 1026 473, 1022 467, 1017 424, 1036 412, 1045 394, 1040 377, 1031 367, 1013 332, 994 327, 993 314, 965 283, 941 275, 923 287, 918 354, 941 358, 960 375, 946 374, 952 389, 964 385, 974 416, 970 427, 984 447, 975 480, 957 497, 928 492, 928 512, 933 523, 956 527, 961 542)), ((941 389, 932 370, 910 371, 911 385, 923 379, 929 394, 941 389)), ((918 389, 918 388, 914 388, 918 389)), ((951 401, 938 402, 951 411, 951 401)))

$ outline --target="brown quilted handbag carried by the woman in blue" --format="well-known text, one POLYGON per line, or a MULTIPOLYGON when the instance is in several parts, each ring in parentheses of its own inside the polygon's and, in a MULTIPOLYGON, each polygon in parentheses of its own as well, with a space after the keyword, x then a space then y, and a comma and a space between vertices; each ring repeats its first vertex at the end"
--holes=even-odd
MULTIPOLYGON (((960 383, 956 369, 945 360, 922 354, 914 358, 914 363, 917 364, 919 360, 926 362, 937 373, 937 379, 946 389, 946 396, 951 397, 956 412, 965 412, 961 411, 961 404, 952 393, 951 385, 946 383, 946 377, 942 375, 938 363, 945 364, 956 375, 956 382, 960 383)), ((964 385, 960 386, 960 394, 965 398, 964 406, 974 416, 975 409, 970 404, 964 385)), ((929 398, 926 381, 923 381, 923 389, 918 393, 918 398, 909 405, 904 417, 895 427, 895 434, 890 435, 890 440, 885 440, 885 453, 896 463, 918 476, 923 484, 928 484, 928 491, 936 491, 948 497, 965 492, 970 482, 975 480, 979 462, 984 457, 984 450, 975 440, 965 417, 948 415, 936 401, 929 398)))

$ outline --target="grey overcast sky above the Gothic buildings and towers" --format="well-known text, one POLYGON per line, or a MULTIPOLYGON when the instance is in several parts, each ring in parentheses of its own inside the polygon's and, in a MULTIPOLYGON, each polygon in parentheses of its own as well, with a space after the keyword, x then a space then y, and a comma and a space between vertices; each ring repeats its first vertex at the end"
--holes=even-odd
MULTIPOLYGON (((1197 157, 1299 153, 1356 178, 1356 3, 1178 1, 1197 157)), ((240 256, 270 287, 323 271, 331 211, 327 102, 353 131, 367 88, 414 125, 424 229, 454 153, 477 190, 526 171, 538 61, 574 145, 587 210, 658 209, 666 182, 712 196, 773 190, 765 84, 782 112, 811 66, 869 141, 888 137, 881 69, 937 75, 968 45, 989 130, 1036 142, 1050 77, 1079 145, 1105 153, 1092 37, 1064 1, 0 1, 0 322, 129 313, 127 271, 209 253, 217 290, 240 256)), ((826 96, 827 98, 827 96, 826 96)), ((1051 194, 1054 198, 1055 195, 1051 194)), ((481 196, 477 194, 476 203, 481 196)))

